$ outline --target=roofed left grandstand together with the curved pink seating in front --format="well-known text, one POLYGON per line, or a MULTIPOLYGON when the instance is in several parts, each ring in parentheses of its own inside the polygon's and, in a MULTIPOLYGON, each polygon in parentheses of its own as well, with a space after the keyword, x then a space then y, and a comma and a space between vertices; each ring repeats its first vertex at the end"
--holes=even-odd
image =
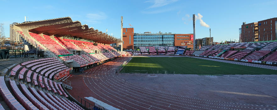
POLYGON ((72 87, 60 80, 69 73, 130 55, 109 45, 122 42, 120 39, 70 17, 24 22, 12 28, 23 40, 25 51, 34 49, 39 54, 1 71, 0 93, 11 110, 87 109, 65 91, 72 87))

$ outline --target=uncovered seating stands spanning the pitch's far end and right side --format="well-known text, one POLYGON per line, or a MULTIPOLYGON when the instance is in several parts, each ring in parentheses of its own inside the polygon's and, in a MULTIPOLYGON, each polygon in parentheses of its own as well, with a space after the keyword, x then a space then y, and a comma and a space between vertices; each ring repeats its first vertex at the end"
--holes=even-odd
POLYGON ((186 46, 139 47, 131 55, 185 55, 233 60, 248 63, 277 65, 277 41, 219 44, 203 46, 199 51, 187 50, 186 46))

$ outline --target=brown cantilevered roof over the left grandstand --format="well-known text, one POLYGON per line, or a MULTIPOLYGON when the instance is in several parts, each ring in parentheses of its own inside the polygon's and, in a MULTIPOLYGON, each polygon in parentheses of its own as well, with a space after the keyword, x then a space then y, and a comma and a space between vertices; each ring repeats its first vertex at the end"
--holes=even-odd
POLYGON ((17 24, 16 26, 27 29, 29 32, 48 36, 76 36, 104 44, 123 42, 106 33, 89 28, 88 25, 82 25, 80 21, 72 21, 70 17, 33 21, 17 24))

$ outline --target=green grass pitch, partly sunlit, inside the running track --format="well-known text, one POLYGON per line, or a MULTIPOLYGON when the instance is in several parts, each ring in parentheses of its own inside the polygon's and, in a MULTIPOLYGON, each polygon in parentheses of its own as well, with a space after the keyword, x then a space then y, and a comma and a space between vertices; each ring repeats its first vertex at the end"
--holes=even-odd
POLYGON ((277 74, 277 70, 272 69, 190 57, 134 57, 120 72, 132 73, 130 70, 148 70, 149 74, 164 71, 168 74, 277 74))

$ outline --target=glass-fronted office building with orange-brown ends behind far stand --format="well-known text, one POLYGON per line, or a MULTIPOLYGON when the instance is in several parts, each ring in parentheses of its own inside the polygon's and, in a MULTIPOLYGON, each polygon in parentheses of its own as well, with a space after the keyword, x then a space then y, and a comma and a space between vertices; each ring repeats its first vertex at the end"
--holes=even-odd
POLYGON ((123 49, 152 46, 187 46, 193 48, 193 34, 134 33, 134 28, 123 28, 123 49))

